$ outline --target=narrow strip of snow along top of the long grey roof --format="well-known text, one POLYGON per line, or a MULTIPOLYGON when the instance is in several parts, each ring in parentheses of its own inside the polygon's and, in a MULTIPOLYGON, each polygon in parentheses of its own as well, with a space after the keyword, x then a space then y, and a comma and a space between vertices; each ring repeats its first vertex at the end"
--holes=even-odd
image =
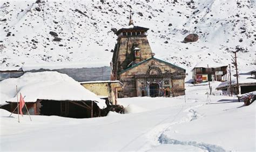
POLYGON ((31 70, 39 70, 41 68, 43 69, 49 69, 49 70, 56 70, 60 68, 91 68, 91 67, 103 67, 103 66, 109 66, 106 65, 104 62, 100 61, 86 61, 86 62, 78 62, 78 63, 44 63, 44 64, 25 64, 22 66, 23 71, 31 71, 31 70))

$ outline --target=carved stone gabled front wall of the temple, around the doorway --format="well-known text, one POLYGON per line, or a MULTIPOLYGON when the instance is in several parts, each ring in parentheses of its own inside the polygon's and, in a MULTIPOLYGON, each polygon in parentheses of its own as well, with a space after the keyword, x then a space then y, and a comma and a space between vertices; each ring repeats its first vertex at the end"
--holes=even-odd
POLYGON ((124 83, 123 97, 150 96, 150 84, 159 85, 159 95, 184 95, 185 71, 152 58, 119 73, 124 83))

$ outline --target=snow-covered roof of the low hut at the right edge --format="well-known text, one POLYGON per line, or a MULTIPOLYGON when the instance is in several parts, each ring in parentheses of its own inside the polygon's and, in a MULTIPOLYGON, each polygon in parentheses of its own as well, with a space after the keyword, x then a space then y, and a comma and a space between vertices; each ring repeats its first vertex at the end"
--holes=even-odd
MULTIPOLYGON (((256 79, 251 78, 251 75, 242 75, 242 74, 240 74, 239 78, 238 78, 238 83, 239 83, 239 85, 244 85, 244 86, 248 85, 248 84, 256 84, 256 79)), ((219 86, 216 89, 226 88, 229 85, 230 85, 230 81, 225 81, 225 82, 222 82, 221 84, 219 84, 219 86)), ((236 77, 232 77, 231 85, 232 86, 237 85, 237 78, 236 77)))

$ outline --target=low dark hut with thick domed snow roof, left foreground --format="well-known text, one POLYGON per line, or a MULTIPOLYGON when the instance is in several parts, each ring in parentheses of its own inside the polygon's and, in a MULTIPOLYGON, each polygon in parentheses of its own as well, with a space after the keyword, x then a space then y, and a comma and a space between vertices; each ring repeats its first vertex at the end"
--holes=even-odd
POLYGON ((101 109, 106 107, 105 100, 85 89, 68 75, 58 72, 25 73, 22 77, 1 81, 0 86, 5 88, 1 94, 5 95, 5 101, 9 103, 1 103, 4 105, 2 108, 10 112, 17 107, 19 93, 25 96, 29 112, 34 115, 90 118, 99 116, 101 109))

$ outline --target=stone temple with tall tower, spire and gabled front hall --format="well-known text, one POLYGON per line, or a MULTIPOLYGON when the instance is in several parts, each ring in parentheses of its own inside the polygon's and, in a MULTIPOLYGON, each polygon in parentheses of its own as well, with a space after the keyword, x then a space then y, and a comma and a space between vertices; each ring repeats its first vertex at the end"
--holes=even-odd
POLYGON ((133 96, 178 96, 185 94, 185 69, 154 58, 147 28, 133 26, 119 29, 111 61, 111 80, 124 84, 119 98, 133 96))

